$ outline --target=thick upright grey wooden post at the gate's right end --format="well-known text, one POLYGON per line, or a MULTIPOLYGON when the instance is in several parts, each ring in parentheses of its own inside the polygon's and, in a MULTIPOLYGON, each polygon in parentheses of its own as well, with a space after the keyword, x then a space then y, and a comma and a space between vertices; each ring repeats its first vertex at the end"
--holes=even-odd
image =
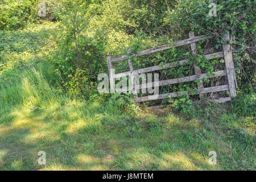
MULTIPOLYGON (((228 41, 229 34, 225 34, 224 38, 228 41)), ((236 84, 235 84, 236 77, 234 72, 232 51, 230 49, 229 44, 225 44, 222 47, 223 47, 225 65, 226 65, 226 75, 228 77, 228 83, 229 83, 230 97, 233 98, 233 97, 236 97, 237 94, 236 94, 236 84)))

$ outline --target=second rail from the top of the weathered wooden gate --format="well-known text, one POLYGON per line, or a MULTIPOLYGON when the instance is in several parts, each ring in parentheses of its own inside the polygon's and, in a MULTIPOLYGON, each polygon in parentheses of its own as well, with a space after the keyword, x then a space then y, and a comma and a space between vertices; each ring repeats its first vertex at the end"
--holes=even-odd
MULTIPOLYGON (((204 55, 206 59, 210 60, 210 59, 214 59, 214 57, 223 57, 223 52, 216 52, 216 53, 211 53, 209 55, 204 55)), ((126 77, 129 76, 131 74, 140 74, 140 73, 147 73, 147 72, 153 72, 153 71, 158 71, 158 70, 162 70, 162 69, 167 69, 167 68, 172 68, 172 67, 176 67, 177 65, 183 65, 183 64, 187 64, 188 60, 181 60, 181 61, 176 61, 174 63, 167 63, 165 65, 165 67, 160 67, 158 66, 154 66, 154 67, 148 67, 148 68, 142 68, 142 69, 136 69, 134 71, 129 71, 129 72, 123 72, 123 73, 117 73, 114 75, 115 78, 121 78, 121 77, 126 77)))

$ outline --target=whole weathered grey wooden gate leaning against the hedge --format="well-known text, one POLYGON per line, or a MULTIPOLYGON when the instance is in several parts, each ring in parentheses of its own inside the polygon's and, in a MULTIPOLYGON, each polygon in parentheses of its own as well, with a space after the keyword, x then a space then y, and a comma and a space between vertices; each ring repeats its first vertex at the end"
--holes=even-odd
MULTIPOLYGON (((192 49, 192 54, 196 55, 196 42, 198 42, 201 38, 209 38, 209 37, 212 37, 212 36, 207 36, 207 35, 195 36, 194 33, 191 31, 191 32, 189 32, 189 39, 185 39, 185 40, 181 40, 179 42, 175 42, 175 43, 172 44, 172 46, 166 44, 166 45, 163 45, 163 46, 146 49, 144 51, 140 51, 137 54, 132 55, 131 57, 147 55, 147 54, 150 54, 150 53, 170 49, 172 47, 185 46, 187 44, 190 44, 191 49, 192 49)), ((226 41, 228 41, 229 40, 229 34, 225 34, 224 39, 226 41)), ((160 100, 160 99, 164 99, 164 98, 168 98, 168 97, 182 96, 184 93, 187 93, 189 95, 200 94, 200 96, 203 96, 204 93, 221 92, 221 91, 225 91, 225 90, 229 90, 230 97, 219 98, 217 100, 214 100, 215 102, 223 103, 223 102, 226 102, 226 101, 230 101, 231 98, 233 98, 233 97, 236 97, 237 82, 236 82, 236 75, 235 75, 235 72, 234 72, 234 64, 233 64, 231 46, 229 44, 225 44, 225 45, 222 46, 222 49, 223 49, 223 51, 221 51, 221 52, 211 53, 209 55, 204 55, 204 56, 208 60, 214 59, 214 57, 224 57, 225 70, 213 72, 212 76, 208 76, 206 73, 202 74, 200 68, 197 67, 196 65, 194 65, 193 69, 194 69, 196 75, 159 81, 159 86, 164 86, 164 85, 170 85, 170 84, 178 84, 178 83, 181 83, 181 82, 200 80, 200 85, 198 86, 197 93, 191 93, 191 92, 188 92, 188 91, 177 92, 177 93, 165 93, 165 94, 159 94, 158 97, 155 98, 155 100, 160 100), (214 56, 212 56, 212 55, 214 55, 214 56), (214 76, 226 76, 228 78, 227 79, 228 80, 228 85, 220 85, 220 86, 212 86, 212 87, 204 88, 203 78, 211 78, 211 77, 214 77, 214 76)), ((160 65, 156 65, 154 67, 147 67, 147 68, 134 70, 133 65, 131 63, 131 59, 129 59, 129 55, 130 55, 130 51, 127 51, 127 55, 123 55, 123 56, 120 56, 120 57, 112 58, 111 55, 108 55, 110 90, 112 90, 113 92, 115 90, 115 85, 114 85, 114 79, 115 78, 130 76, 131 86, 129 86, 125 89, 133 90, 133 93, 135 93, 135 91, 134 91, 134 88, 135 88, 134 75, 140 74, 140 73, 160 71, 162 69, 172 68, 172 67, 176 67, 177 65, 183 65, 183 64, 188 64, 189 63, 189 60, 181 60, 181 61, 176 61, 174 63, 168 63, 168 64, 166 64, 166 66, 164 68, 160 67, 160 65), (113 72, 113 63, 117 62, 117 61, 126 60, 126 59, 128 59, 130 71, 115 74, 113 72)), ((152 84, 154 84, 154 82, 152 84)), ((139 85, 139 89, 148 88, 150 86, 152 86, 152 85, 151 84, 144 84, 144 85, 141 84, 141 85, 139 85)), ((126 90, 123 90, 123 91, 126 91, 126 90)), ((134 100, 135 100, 135 102, 144 102, 144 101, 154 100, 154 98, 149 98, 149 96, 144 96, 144 97, 134 98, 134 100)))

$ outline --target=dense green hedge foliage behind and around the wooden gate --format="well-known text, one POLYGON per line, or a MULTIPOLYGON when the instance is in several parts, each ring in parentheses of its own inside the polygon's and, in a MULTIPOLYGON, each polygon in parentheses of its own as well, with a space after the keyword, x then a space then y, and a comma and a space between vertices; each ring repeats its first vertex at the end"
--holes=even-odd
MULTIPOLYGON (((38 1, 3 1, 1 5, 1 29, 15 30, 26 23, 57 21, 52 34, 56 49, 49 59, 59 76, 61 89, 69 96, 94 98, 97 92, 97 76, 108 73, 106 54, 123 55, 130 48, 132 53, 142 49, 171 44, 188 37, 189 31, 196 35, 213 34, 214 39, 201 40, 197 53, 203 55, 221 51, 226 43, 223 35, 230 33, 236 64, 237 81, 240 89, 253 88, 255 81, 255 2, 254 1, 212 1, 212 0, 61 0, 42 1, 46 4, 46 17, 39 17, 38 1), (210 3, 217 4, 216 16, 209 16, 210 3), (243 84, 241 84, 243 83, 243 84), (246 84, 244 84, 246 83, 246 84)), ((150 65, 164 65, 189 59, 189 67, 180 65, 160 73, 160 79, 191 75, 193 64, 201 71, 212 75, 213 71, 224 69, 223 60, 216 57, 208 61, 204 56, 193 56, 188 47, 172 48, 154 55, 133 57, 134 69, 150 65)), ((127 64, 115 64, 117 72, 127 71, 127 64)), ((221 80, 225 82, 225 80, 221 80)), ((199 81, 179 85, 163 86, 162 93, 193 90, 199 81)), ((216 80, 204 79, 205 86, 216 84, 216 80)), ((241 91, 244 92, 244 91, 241 91)), ((211 96, 212 97, 212 96, 211 96)), ((196 96, 183 96, 177 101, 191 105, 196 96)), ((168 102, 164 100, 163 104, 168 102)), ((183 103, 183 104, 182 104, 183 103)), ((175 105, 174 105, 175 106, 175 105)), ((193 110, 185 107, 186 111, 193 110)))

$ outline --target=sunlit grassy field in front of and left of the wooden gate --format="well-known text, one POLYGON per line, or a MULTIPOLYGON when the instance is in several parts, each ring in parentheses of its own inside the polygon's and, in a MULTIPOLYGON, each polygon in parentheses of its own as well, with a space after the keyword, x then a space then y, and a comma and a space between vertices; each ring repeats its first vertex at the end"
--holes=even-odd
MULTIPOLYGON (((0 33, 1 170, 255 170, 254 115, 212 105, 196 117, 168 109, 131 117, 122 99, 69 98, 52 82, 49 32, 42 25, 0 33)), ((245 102, 249 113, 249 101, 255 94, 240 94, 234 108, 245 102)))

